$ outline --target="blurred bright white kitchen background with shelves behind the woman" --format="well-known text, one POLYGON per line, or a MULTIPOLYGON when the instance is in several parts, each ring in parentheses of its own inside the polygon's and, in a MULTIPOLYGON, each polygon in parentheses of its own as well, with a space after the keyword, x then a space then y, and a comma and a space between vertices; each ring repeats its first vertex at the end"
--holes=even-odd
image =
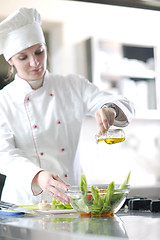
MULTIPOLYGON (((0 21, 19 7, 36 7, 53 73, 86 76, 100 89, 123 94, 136 107, 123 143, 96 144, 98 127, 86 117, 80 141, 88 182, 160 185, 160 11, 61 0, 1 0, 0 21)), ((8 64, 0 56, 0 88, 8 64)))

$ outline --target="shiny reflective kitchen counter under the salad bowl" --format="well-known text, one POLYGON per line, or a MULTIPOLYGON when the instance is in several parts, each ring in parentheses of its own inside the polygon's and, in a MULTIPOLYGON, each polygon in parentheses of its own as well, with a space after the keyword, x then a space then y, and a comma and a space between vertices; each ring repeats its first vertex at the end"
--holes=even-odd
POLYGON ((112 218, 84 218, 78 213, 0 216, 1 240, 159 239, 160 213, 120 210, 112 218))

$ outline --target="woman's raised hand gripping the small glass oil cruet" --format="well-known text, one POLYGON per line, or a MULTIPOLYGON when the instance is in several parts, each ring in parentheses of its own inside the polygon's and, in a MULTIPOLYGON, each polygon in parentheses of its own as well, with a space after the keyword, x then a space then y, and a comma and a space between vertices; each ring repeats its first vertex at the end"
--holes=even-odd
POLYGON ((95 119, 100 127, 99 134, 104 134, 113 125, 116 111, 113 108, 101 108, 95 113, 95 119))

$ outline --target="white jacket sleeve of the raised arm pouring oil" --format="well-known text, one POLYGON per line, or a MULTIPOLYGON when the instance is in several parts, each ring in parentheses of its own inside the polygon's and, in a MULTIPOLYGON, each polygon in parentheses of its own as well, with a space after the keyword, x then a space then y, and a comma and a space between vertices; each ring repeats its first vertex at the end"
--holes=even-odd
POLYGON ((94 115, 104 104, 115 104, 118 107, 119 114, 114 121, 114 125, 125 127, 133 119, 135 109, 133 103, 121 96, 110 92, 100 91, 94 84, 87 79, 81 78, 81 89, 85 111, 87 115, 94 115))

